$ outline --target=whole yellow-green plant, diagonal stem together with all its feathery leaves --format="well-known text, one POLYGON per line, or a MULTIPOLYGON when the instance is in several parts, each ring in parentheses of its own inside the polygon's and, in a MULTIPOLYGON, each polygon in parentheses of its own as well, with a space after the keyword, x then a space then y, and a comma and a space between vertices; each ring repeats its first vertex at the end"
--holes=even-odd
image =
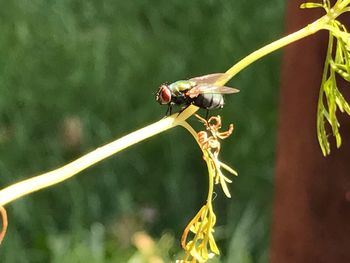
MULTIPOLYGON (((345 111, 350 115, 350 106, 338 87, 339 78, 348 82, 350 81, 350 34, 346 27, 338 20, 340 15, 350 11, 349 4, 350 0, 338 0, 333 6, 329 0, 323 0, 319 3, 308 2, 302 4, 301 8, 323 8, 325 15, 304 28, 252 52, 234 64, 224 74, 221 74, 215 81, 215 85, 224 86, 245 67, 277 49, 320 30, 327 30, 329 32, 329 42, 318 100, 317 136, 322 153, 324 155, 330 154, 326 124, 328 123, 330 125, 331 134, 335 137, 336 145, 339 148, 341 146, 341 135, 339 132, 340 124, 336 116, 337 110, 341 112, 345 111)), ((227 183, 230 183, 231 179, 226 177, 222 173, 222 170, 226 170, 233 175, 237 175, 237 173, 219 160, 219 152, 221 140, 231 135, 233 126, 230 125, 227 131, 221 132, 220 116, 212 117, 208 120, 198 116, 203 123, 204 130, 196 132, 187 122, 187 119, 194 115, 197 110, 197 106, 190 105, 180 114, 175 113, 142 129, 129 133, 59 169, 2 189, 0 191, 0 212, 3 221, 3 230, 0 232, 0 241, 7 227, 6 211, 3 209, 3 206, 27 194, 69 179, 80 171, 131 145, 165 130, 182 126, 193 135, 202 151, 203 159, 208 167, 209 190, 205 204, 184 230, 181 244, 185 250, 185 257, 179 260, 179 262, 205 262, 213 256, 218 255, 219 248, 216 245, 214 236, 216 216, 212 205, 213 189, 215 184, 220 184, 224 194, 230 197, 227 183)))

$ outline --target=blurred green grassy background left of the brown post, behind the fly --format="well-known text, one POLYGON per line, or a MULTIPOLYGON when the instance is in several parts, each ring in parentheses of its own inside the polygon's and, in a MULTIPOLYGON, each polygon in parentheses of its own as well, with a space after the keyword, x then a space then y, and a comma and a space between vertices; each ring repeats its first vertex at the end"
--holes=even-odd
MULTIPOLYGON (((225 71, 282 36, 283 17, 277 0, 1 1, 0 186, 159 120, 161 83, 225 71)), ((241 72, 219 112, 236 127, 221 159, 240 176, 232 199, 216 190, 215 262, 268 262, 279 64, 241 72)), ((0 261, 143 262, 137 231, 174 260, 206 192, 195 142, 170 130, 8 205, 0 261)))

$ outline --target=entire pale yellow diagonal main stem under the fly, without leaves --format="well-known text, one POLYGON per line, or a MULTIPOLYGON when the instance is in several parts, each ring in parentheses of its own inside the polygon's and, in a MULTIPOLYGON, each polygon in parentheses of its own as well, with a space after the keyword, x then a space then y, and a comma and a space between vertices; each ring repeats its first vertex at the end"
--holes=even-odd
MULTIPOLYGON (((226 71, 226 74, 224 74, 223 77, 216 82, 216 85, 224 85, 238 72, 240 72, 256 60, 260 59, 261 57, 290 43, 293 43, 299 39, 312 35, 321 29, 324 29, 329 19, 330 18, 327 15, 325 15, 313 22, 312 24, 306 26, 305 28, 300 29, 295 33, 292 33, 284 38, 272 42, 271 44, 268 44, 262 47, 261 49, 251 53, 250 55, 239 61, 237 64, 232 66, 228 71, 226 71)), ((9 202, 16 200, 24 195, 60 183, 74 176, 78 172, 94 165, 95 163, 131 145, 134 145, 151 136, 154 136, 179 124, 182 124, 197 110, 198 107, 191 105, 187 107, 186 110, 184 110, 181 114, 173 114, 168 118, 162 119, 154 124, 146 126, 145 128, 132 132, 118 140, 115 140, 114 142, 111 142, 80 157, 79 159, 61 168, 11 185, 0 191, 0 206, 8 204, 9 202)))

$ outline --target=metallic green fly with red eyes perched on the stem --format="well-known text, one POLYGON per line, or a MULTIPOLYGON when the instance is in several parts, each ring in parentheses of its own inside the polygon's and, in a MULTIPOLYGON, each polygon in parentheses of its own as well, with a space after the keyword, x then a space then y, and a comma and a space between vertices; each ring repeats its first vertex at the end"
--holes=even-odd
POLYGON ((166 115, 171 114, 173 105, 183 105, 183 109, 190 104, 208 110, 224 107, 223 94, 239 92, 238 89, 215 85, 224 73, 204 75, 189 80, 179 80, 170 85, 163 84, 156 93, 156 101, 161 105, 168 105, 166 115))

